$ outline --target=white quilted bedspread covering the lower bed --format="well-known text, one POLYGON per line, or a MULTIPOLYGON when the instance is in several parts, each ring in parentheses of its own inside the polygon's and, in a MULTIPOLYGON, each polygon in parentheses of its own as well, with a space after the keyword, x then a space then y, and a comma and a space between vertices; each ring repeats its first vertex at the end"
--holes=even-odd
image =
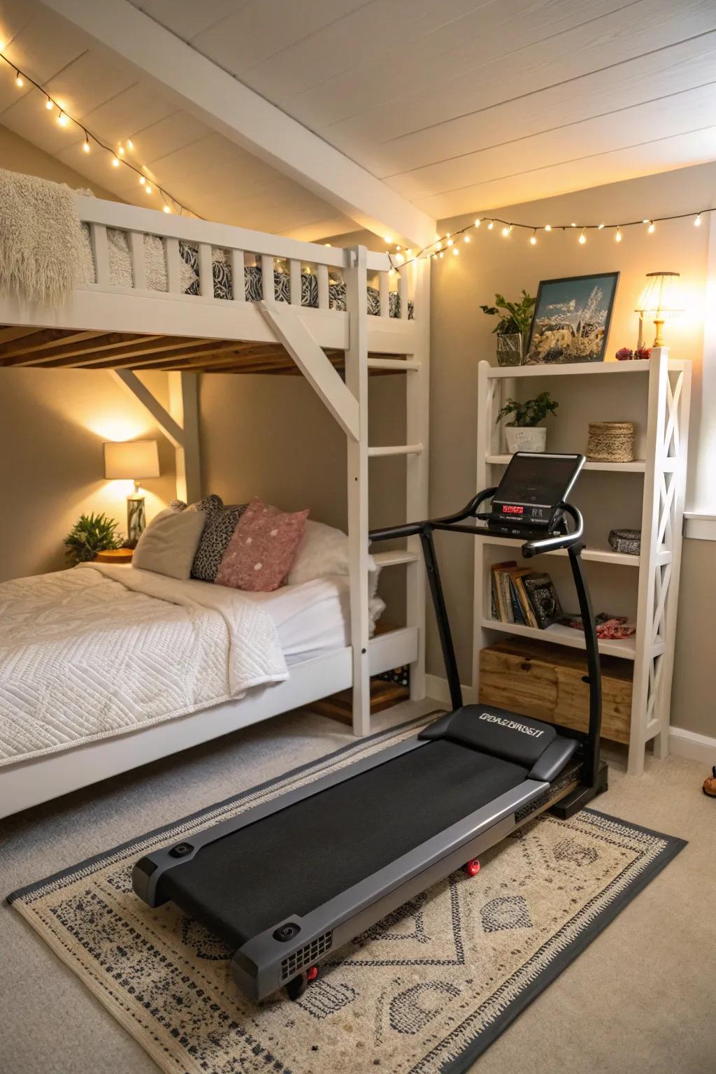
POLYGON ((287 678, 273 620, 234 590, 98 564, 0 584, 0 766, 287 678))

